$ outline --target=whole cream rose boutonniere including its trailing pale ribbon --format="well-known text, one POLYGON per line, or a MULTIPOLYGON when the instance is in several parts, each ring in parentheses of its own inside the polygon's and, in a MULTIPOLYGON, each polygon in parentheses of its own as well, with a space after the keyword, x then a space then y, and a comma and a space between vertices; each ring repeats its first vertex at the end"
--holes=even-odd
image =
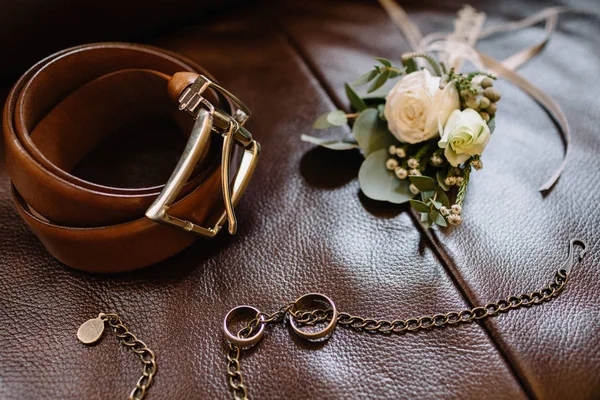
MULTIPOLYGON (((545 107, 560 122, 568 145, 566 118, 549 96, 506 64, 474 49, 479 37, 490 34, 482 31, 485 14, 466 6, 455 20, 453 33, 422 38, 399 5, 392 0, 380 2, 413 48, 431 51, 406 53, 399 65, 375 58, 373 69, 345 85, 353 112, 330 111, 314 123, 315 129, 350 123, 352 136, 332 140, 302 135, 302 140, 332 150, 360 149, 365 159, 358 180, 365 196, 396 204, 410 202, 426 227, 459 225, 472 171, 483 168, 482 155, 499 112, 497 77, 487 69, 498 70, 545 107), (442 39, 430 39, 436 37, 442 39), (440 59, 436 54, 441 54, 440 59), (463 60, 481 69, 461 71, 463 60)), ((540 13, 521 24, 529 26, 542 16, 556 17, 540 13)), ((528 59, 519 56, 513 69, 528 59)), ((554 185, 564 163, 541 191, 554 185)))

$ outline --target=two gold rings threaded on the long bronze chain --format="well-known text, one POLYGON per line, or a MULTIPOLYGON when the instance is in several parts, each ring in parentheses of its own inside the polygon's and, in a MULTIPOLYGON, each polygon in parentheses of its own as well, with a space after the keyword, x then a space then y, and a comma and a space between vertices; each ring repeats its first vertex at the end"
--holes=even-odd
MULTIPOLYGON (((300 296, 296 299, 296 301, 294 301, 290 309, 290 313, 292 314, 290 316, 290 326, 294 333, 301 338, 310 341, 318 341, 328 338, 333 333, 338 320, 338 311, 335 303, 329 297, 321 293, 308 293, 304 296, 300 296), (318 331, 306 331, 300 329, 299 323, 294 318, 294 315, 296 315, 298 312, 307 310, 309 305, 315 303, 324 304, 327 310, 331 310, 331 320, 329 320, 327 326, 318 331)), ((223 331, 225 332, 225 336, 230 343, 239 347, 251 347, 262 339, 265 330, 265 324, 265 317, 262 315, 260 310, 252 306, 243 305, 237 306, 227 313, 225 320, 223 321, 223 331), (229 326, 233 321, 244 316, 247 317, 248 315, 258 318, 258 330, 251 330, 251 335, 248 337, 240 337, 237 333, 232 333, 229 330, 229 326)))

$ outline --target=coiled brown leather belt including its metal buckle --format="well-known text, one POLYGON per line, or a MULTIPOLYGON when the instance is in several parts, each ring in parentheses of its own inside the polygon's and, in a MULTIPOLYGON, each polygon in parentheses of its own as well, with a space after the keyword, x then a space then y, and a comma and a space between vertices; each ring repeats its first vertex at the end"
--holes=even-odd
POLYGON ((164 260, 226 222, 235 233, 233 207, 259 146, 243 127, 249 110, 208 76, 161 49, 99 43, 58 52, 15 84, 3 124, 13 197, 54 257, 121 272, 164 260), (165 185, 109 187, 71 174, 108 135, 157 113, 173 114, 189 135, 165 185), (230 179, 233 144, 243 155, 230 179))

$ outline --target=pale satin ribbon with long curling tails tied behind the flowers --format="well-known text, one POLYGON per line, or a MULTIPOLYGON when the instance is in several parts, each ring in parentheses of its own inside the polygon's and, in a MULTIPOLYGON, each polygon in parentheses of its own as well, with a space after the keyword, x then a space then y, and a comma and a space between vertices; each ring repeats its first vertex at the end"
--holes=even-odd
POLYGON ((465 12, 466 10, 466 12, 474 14, 463 14, 461 16, 459 13, 459 17, 455 23, 455 32, 436 32, 423 37, 420 29, 410 20, 404 9, 396 2, 396 0, 379 0, 379 3, 388 13, 392 21, 400 28, 413 51, 440 52, 442 57, 445 57, 447 60, 451 61, 448 65, 455 67, 457 65, 460 66, 463 60, 467 60, 476 68, 488 69, 519 87, 534 100, 536 100, 552 116, 561 129, 561 134, 565 141, 565 154, 558 169, 552 174, 550 179, 548 179, 548 181, 546 181, 540 187, 539 190, 543 192, 552 188, 562 174, 567 163, 567 158, 570 153, 571 128, 560 106, 550 96, 527 81, 527 79, 516 73, 515 70, 535 57, 535 55, 537 55, 546 46, 550 40, 550 37, 552 36, 552 33, 556 30, 558 15, 560 13, 592 13, 586 10, 575 10, 566 7, 551 7, 520 21, 509 22, 506 24, 492 26, 487 29, 482 29, 485 21, 485 14, 476 13, 473 9, 467 7, 461 10, 461 12, 465 12), (465 35, 456 34, 459 28, 461 28, 460 26, 456 26, 460 22, 461 17, 465 19, 467 23, 472 25, 471 31, 465 35), (529 26, 533 26, 542 21, 546 21, 546 34, 542 41, 513 54, 503 61, 498 61, 475 49, 475 44, 478 39, 483 39, 502 32, 517 31, 529 26), (446 55, 444 55, 444 53, 446 53, 446 55))

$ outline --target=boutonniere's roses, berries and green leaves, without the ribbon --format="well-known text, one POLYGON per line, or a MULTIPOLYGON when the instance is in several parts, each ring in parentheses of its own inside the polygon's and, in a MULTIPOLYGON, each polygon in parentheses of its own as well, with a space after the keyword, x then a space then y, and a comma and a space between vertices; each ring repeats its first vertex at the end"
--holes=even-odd
POLYGON ((374 200, 410 202, 426 226, 458 225, 472 169, 494 131, 500 92, 496 77, 484 71, 458 73, 433 55, 409 53, 402 66, 377 58, 378 65, 346 85, 356 110, 334 110, 314 127, 326 129, 354 119, 351 140, 305 141, 334 150, 359 147, 365 161, 358 173, 363 193, 374 200), (416 59, 427 66, 418 68, 416 59), (356 86, 373 93, 396 80, 385 97, 361 97, 356 86))

